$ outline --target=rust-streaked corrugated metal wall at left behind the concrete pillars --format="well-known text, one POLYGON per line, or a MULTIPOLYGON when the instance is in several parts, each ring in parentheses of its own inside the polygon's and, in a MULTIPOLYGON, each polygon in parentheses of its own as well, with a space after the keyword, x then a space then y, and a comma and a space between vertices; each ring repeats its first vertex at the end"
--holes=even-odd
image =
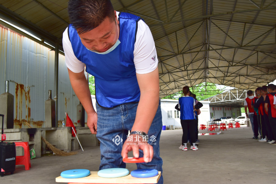
MULTIPOLYGON (((9 92, 14 95, 14 128, 45 127, 45 100, 54 86, 55 51, 0 25, 0 94, 5 93, 5 81, 10 81, 9 92)), ((59 54, 58 122, 67 112, 76 121, 76 105, 65 57, 59 54)))

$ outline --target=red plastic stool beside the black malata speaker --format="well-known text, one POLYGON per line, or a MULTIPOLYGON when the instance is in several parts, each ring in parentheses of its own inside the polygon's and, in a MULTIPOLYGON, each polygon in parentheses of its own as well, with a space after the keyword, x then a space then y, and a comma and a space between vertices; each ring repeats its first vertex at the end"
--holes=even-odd
POLYGON ((21 146, 24 149, 23 156, 16 156, 15 165, 25 165, 25 170, 30 170, 31 157, 29 150, 29 142, 15 142, 15 146, 21 146))

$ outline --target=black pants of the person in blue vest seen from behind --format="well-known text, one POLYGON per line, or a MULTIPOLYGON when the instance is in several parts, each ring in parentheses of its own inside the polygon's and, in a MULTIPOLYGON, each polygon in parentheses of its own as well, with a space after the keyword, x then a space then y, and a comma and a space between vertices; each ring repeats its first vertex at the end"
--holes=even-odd
POLYGON ((188 128, 190 131, 190 137, 191 137, 191 145, 192 143, 196 143, 196 121, 195 120, 180 120, 181 126, 182 126, 182 131, 183 131, 183 135, 182 135, 182 145, 184 145, 184 143, 187 143, 188 141, 188 128))

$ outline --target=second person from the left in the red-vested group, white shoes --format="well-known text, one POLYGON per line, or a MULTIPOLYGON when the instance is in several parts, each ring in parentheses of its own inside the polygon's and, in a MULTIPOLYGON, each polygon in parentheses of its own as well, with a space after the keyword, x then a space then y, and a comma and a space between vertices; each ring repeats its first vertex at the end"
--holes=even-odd
POLYGON ((261 139, 259 142, 266 142, 266 126, 264 123, 264 118, 263 118, 263 101, 264 98, 262 96, 262 87, 258 87, 257 89, 257 98, 255 103, 254 103, 254 110, 257 113, 257 120, 261 128, 261 139))

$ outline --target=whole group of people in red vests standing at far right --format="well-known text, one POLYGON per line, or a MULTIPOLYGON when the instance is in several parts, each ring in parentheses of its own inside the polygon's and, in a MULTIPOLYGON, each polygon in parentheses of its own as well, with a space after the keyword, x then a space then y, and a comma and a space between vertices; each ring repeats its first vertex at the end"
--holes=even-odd
POLYGON ((252 138, 276 145, 276 86, 269 84, 258 87, 255 96, 252 90, 248 90, 247 94, 244 109, 251 122, 254 134, 252 138))

